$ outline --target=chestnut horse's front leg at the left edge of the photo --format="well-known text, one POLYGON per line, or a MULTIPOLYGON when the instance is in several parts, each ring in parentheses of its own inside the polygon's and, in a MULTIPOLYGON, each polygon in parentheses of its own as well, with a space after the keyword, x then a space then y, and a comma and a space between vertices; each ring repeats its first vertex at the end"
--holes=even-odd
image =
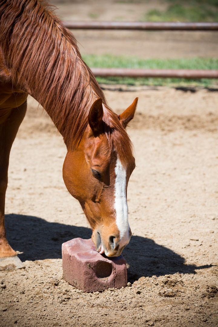
MULTIPOLYGON (((16 263, 18 263, 20 259, 16 257, 17 253, 10 247, 6 238, 5 193, 8 185, 8 163, 10 149, 19 126, 24 119, 26 113, 26 101, 21 106, 12 108, 10 111, 11 112, 8 118, 0 124, 0 266, 2 266, 4 258, 14 257, 14 261, 12 259, 12 263, 15 264, 15 267, 18 267, 19 265, 16 263)), ((7 263, 8 259, 6 259, 7 263)), ((21 261, 20 264, 22 264, 21 261)))

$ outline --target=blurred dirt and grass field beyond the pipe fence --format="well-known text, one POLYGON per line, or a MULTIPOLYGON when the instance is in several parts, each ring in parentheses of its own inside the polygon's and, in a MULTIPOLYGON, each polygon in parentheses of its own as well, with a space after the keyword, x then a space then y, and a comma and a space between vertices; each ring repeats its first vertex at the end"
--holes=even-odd
MULTIPOLYGON (((218 22, 218 0, 51 0, 64 21, 218 22)), ((218 69, 218 31, 72 30, 90 67, 218 69)), ((97 77, 127 85, 218 87, 213 79, 97 77)))

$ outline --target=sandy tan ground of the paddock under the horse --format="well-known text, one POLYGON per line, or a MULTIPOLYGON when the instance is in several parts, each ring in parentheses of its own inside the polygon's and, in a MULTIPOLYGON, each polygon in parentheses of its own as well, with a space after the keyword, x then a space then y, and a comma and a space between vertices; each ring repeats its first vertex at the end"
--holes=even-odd
POLYGON ((1 326, 217 326, 218 93, 104 92, 117 113, 139 96, 123 251, 132 286, 91 294, 63 280, 61 244, 91 230, 62 181, 62 138, 30 98, 6 200, 26 268, 0 272, 1 326))

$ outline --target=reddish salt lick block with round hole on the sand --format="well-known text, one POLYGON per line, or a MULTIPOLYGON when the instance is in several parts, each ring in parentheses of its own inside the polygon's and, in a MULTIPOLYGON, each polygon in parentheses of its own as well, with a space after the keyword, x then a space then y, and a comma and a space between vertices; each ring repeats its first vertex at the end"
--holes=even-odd
POLYGON ((84 292, 104 291, 127 284, 126 260, 106 257, 95 250, 92 239, 74 238, 62 244, 63 276, 84 292))

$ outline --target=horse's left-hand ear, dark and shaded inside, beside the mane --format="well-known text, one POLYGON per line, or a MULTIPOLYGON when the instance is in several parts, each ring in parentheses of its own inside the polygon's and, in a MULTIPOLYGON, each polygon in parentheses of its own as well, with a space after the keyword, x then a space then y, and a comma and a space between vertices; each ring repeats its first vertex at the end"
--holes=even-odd
POLYGON ((101 131, 103 113, 102 99, 99 98, 92 104, 88 116, 88 123, 93 133, 101 131))

